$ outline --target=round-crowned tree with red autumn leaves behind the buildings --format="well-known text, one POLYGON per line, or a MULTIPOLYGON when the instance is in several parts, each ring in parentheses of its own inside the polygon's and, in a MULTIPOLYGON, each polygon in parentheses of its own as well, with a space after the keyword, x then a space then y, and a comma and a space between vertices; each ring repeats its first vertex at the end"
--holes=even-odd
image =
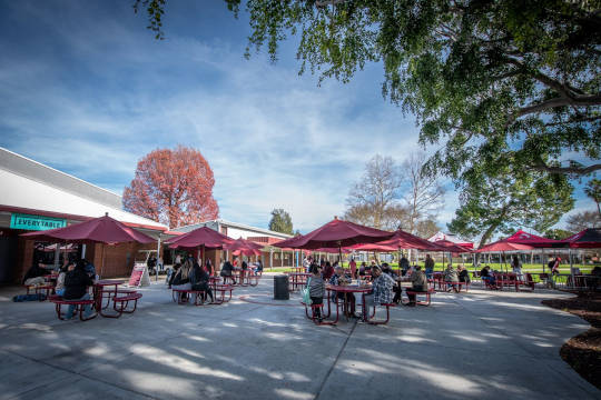
POLYGON ((142 158, 124 191, 127 211, 177 228, 216 219, 213 170, 200 151, 178 146, 142 158))

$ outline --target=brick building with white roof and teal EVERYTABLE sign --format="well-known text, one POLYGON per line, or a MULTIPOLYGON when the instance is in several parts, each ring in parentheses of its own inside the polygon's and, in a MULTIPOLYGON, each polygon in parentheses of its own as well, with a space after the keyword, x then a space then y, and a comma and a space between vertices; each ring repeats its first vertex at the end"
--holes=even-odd
POLYGON ((156 249, 156 244, 124 243, 107 246, 105 252, 104 244, 62 247, 61 251, 53 243, 24 240, 20 233, 61 228, 106 212, 155 238, 168 231, 162 223, 124 211, 120 196, 3 148, 0 186, 0 283, 20 282, 35 260, 58 264, 69 252, 85 252, 104 278, 127 276, 138 250, 156 249))

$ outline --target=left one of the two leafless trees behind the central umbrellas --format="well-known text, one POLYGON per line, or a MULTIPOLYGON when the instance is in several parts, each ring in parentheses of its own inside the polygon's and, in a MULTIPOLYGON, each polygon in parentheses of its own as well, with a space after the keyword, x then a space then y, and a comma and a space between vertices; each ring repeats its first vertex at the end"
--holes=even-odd
POLYGON ((396 229, 402 180, 398 167, 391 157, 374 156, 365 164, 365 173, 346 199, 345 219, 378 229, 396 229))

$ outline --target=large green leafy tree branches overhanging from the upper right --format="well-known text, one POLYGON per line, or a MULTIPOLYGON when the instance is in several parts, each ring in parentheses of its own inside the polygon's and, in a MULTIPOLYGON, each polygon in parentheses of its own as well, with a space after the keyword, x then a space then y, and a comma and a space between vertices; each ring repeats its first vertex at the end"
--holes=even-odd
MULTIPOLYGON (((235 13, 242 0, 225 0, 235 13)), ((136 0, 157 37, 165 0, 136 0)), ((300 72, 349 81, 368 62, 412 112, 428 170, 479 184, 504 166, 601 169, 599 1, 247 0, 249 50, 299 36, 300 72)))

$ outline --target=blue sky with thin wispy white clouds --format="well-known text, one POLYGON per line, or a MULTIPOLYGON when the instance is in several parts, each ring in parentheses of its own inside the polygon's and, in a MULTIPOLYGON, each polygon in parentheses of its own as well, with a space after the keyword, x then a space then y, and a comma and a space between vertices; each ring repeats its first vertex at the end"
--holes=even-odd
MULTIPOLYGON (((118 194, 148 152, 194 147, 220 218, 267 228, 283 208, 302 232, 344 213, 373 156, 423 151, 415 118, 382 97, 381 64, 318 86, 298 76, 294 38, 277 63, 246 60, 248 20, 223 1, 170 1, 161 41, 132 3, 0 0, 1 147, 118 194)), ((442 183, 445 227, 459 200, 442 183)), ((575 183, 573 212, 593 209, 575 183)))

